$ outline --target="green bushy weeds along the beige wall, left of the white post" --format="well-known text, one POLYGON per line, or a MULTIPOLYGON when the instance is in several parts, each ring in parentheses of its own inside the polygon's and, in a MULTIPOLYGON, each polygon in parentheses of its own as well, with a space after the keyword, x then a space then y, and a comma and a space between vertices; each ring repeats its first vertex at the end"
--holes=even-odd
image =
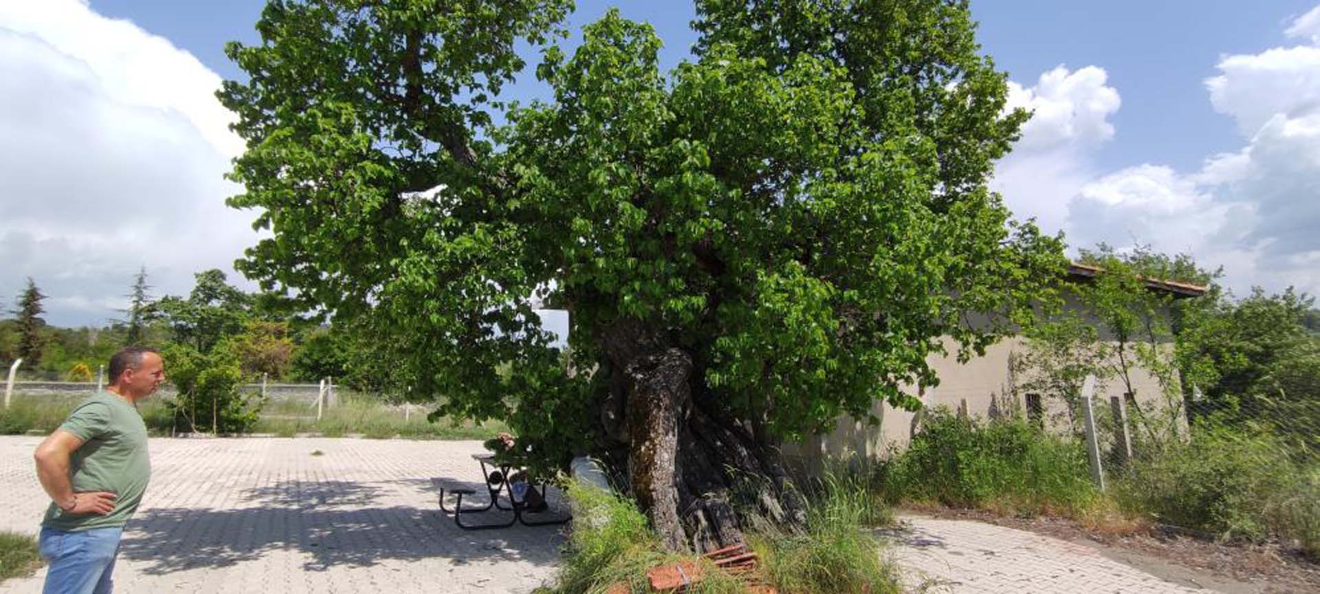
POLYGON ((1081 444, 1044 433, 1023 418, 987 422, 928 411, 908 449, 882 471, 892 503, 1026 513, 1078 513, 1098 494, 1081 444))

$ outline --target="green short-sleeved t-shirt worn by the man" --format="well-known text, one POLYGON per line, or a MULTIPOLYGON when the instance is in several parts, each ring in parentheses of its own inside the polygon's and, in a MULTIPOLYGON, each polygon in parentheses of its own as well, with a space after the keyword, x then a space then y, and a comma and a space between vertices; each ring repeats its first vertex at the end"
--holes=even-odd
POLYGON ((83 400, 59 429, 83 441, 69 465, 74 492, 110 491, 117 496, 115 510, 104 516, 69 513, 51 503, 41 525, 77 532, 127 524, 152 475, 147 424, 137 409, 110 392, 100 392, 83 400))

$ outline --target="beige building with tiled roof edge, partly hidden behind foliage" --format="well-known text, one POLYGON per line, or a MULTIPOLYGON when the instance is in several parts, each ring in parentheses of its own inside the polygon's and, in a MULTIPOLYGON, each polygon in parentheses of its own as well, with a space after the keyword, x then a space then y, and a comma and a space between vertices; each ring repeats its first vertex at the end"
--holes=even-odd
MULTIPOLYGON (((1102 273, 1101 269, 1081 264, 1072 264, 1068 269, 1069 280, 1081 282, 1094 279, 1100 273, 1102 273)), ((1147 280, 1146 285, 1151 290, 1168 292, 1175 298, 1205 294, 1204 286, 1180 282, 1147 280)), ((1085 312, 1085 306, 1076 297, 1065 296, 1065 306, 1081 313, 1085 319, 1094 321, 1094 317, 1085 312)), ((1107 337, 1101 335, 1101 339, 1107 339, 1107 337)), ((948 407, 950 411, 981 418, 1018 413, 1039 417, 1040 422, 1056 430, 1067 430, 1071 425, 1069 416, 1073 412, 1069 411, 1071 407, 1063 399, 1048 393, 1027 392, 1023 388, 1026 381, 1022 378, 1014 378, 1012 362, 1015 356, 1027 350, 1024 338, 1010 337, 999 341, 986 348, 983 356, 974 356, 966 363, 958 363, 957 346, 952 339, 944 342, 949 354, 935 354, 928 359, 940 378, 940 384, 907 389, 908 393, 921 400, 924 409, 948 407)), ((1172 347, 1172 345, 1167 345, 1167 347, 1172 347)), ((1133 391, 1143 411, 1180 405, 1167 401, 1164 391, 1152 374, 1138 368, 1130 374, 1130 378, 1133 391)), ((1122 399, 1126 392, 1127 385, 1123 381, 1110 379, 1097 385, 1093 401, 1097 403, 1097 407, 1107 411, 1110 399, 1122 399)), ((923 411, 909 412, 876 401, 873 404, 871 413, 880 420, 879 425, 869 425, 865 420, 843 417, 838 420, 832 433, 785 447, 785 453, 799 455, 803 462, 812 466, 828 457, 861 454, 870 458, 883 458, 891 451, 907 446, 920 424, 923 411)))

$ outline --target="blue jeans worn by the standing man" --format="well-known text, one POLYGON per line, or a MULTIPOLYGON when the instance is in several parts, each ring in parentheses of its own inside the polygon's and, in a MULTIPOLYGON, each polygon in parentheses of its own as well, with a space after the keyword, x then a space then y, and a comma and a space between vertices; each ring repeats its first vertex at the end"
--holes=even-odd
POLYGON ((123 527, 65 532, 42 528, 38 548, 50 566, 42 594, 110 594, 123 527))

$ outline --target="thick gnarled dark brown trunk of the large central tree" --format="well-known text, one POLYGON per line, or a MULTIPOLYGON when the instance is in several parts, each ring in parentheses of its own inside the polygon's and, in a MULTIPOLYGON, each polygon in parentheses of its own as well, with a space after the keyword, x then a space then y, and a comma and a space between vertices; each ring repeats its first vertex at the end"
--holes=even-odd
POLYGON ((700 389, 692 356, 656 348, 636 326, 615 330, 606 345, 622 374, 611 374, 605 405, 622 404, 626 426, 607 424, 606 433, 627 444, 630 488, 665 546, 708 552, 742 543, 746 529, 804 525, 804 500, 777 446, 700 389))

